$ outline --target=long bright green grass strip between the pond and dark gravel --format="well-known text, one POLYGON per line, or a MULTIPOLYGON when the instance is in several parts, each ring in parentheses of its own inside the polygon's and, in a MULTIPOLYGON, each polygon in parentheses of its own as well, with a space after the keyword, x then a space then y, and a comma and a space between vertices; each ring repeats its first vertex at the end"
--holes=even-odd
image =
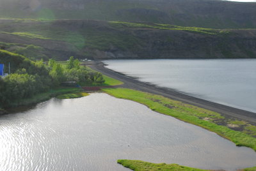
POLYGON ((205 118, 222 119, 223 116, 216 112, 133 89, 117 88, 102 89, 102 91, 116 98, 137 101, 138 103, 147 105, 147 107, 156 112, 170 115, 187 123, 195 124, 209 131, 213 131, 218 133, 221 137, 234 142, 237 146, 250 147, 256 151, 256 138, 240 131, 231 130, 227 126, 221 126, 211 121, 204 120, 205 118))

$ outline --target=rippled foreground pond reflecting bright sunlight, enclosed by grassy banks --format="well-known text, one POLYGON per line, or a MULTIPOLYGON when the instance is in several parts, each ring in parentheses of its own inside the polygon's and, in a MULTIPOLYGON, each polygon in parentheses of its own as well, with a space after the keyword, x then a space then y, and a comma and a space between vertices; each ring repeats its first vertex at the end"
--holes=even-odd
POLYGON ((0 170, 129 170, 118 159, 253 167, 256 152, 134 101, 95 93, 0 117, 0 170))

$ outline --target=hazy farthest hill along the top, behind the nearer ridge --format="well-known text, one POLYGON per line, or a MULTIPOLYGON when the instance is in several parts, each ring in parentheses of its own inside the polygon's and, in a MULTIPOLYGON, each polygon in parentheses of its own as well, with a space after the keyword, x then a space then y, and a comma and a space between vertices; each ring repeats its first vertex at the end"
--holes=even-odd
POLYGON ((1 0, 0 17, 256 28, 256 3, 220 0, 1 0))

